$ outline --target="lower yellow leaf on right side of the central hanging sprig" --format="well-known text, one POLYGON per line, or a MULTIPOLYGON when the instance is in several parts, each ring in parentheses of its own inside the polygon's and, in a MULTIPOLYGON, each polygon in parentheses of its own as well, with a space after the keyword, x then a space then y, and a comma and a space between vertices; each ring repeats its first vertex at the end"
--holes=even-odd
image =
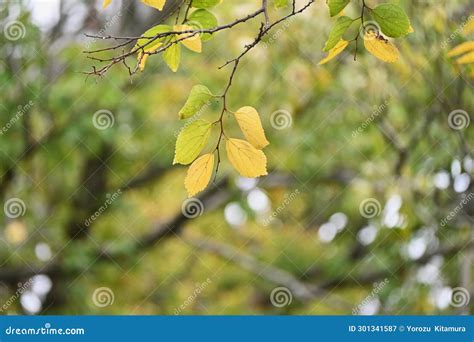
POLYGON ((267 158, 245 140, 228 139, 226 141, 227 156, 231 164, 243 177, 258 177, 267 174, 267 158))

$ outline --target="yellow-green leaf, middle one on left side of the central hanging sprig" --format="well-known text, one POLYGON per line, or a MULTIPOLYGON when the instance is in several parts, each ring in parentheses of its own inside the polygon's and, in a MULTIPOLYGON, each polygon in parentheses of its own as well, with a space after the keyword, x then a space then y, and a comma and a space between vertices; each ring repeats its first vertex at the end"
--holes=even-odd
POLYGON ((205 120, 196 120, 185 126, 176 139, 173 164, 192 163, 206 146, 211 134, 211 126, 212 124, 205 120))

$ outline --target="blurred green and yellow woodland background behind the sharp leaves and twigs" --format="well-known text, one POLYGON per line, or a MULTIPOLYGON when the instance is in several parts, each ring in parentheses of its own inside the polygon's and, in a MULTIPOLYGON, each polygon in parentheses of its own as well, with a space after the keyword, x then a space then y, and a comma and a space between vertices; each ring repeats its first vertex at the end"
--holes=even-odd
POLYGON ((447 53, 472 39, 473 4, 398 3, 414 28, 398 63, 352 47, 317 66, 324 1, 247 55, 229 105, 260 112, 269 175, 241 178, 224 158, 190 202, 177 113, 195 84, 222 91, 217 67, 261 19, 183 51, 177 73, 154 56, 134 77, 95 78, 83 51, 110 42, 85 33, 137 36, 174 4, 2 1, 1 313, 472 314, 472 66, 447 53))

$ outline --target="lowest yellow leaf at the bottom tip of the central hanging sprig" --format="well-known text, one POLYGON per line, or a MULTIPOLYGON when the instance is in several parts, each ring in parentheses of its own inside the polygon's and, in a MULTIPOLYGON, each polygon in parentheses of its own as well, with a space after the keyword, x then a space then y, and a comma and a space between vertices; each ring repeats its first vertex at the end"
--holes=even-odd
POLYGON ((211 180, 213 168, 214 154, 212 153, 199 157, 191 164, 184 179, 184 186, 189 197, 193 197, 207 187, 211 180))

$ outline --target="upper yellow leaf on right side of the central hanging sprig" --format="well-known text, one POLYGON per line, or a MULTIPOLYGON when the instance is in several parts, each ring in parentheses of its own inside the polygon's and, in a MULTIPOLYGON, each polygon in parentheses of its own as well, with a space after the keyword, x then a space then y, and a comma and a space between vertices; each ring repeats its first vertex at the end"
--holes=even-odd
POLYGON ((247 140, 255 148, 261 150, 269 144, 255 108, 246 106, 238 109, 235 112, 235 119, 247 140))

